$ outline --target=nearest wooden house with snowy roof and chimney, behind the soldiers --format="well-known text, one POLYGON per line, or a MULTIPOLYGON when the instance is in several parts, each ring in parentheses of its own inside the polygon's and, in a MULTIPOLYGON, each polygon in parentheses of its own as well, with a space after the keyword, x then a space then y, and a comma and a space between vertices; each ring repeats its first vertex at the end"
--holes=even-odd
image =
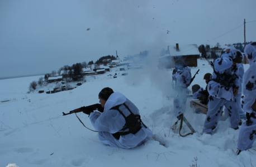
POLYGON ((190 45, 170 45, 168 46, 168 53, 159 57, 160 69, 174 68, 174 62, 178 59, 184 61, 185 65, 189 67, 197 67, 197 57, 200 56, 196 44, 190 45))

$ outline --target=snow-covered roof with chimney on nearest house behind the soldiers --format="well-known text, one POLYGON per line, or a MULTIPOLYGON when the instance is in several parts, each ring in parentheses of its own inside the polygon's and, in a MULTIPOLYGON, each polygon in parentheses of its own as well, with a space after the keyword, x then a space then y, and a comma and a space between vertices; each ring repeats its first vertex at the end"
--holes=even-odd
MULTIPOLYGON (((189 45, 179 45, 179 50, 176 50, 176 45, 168 46, 169 54, 168 56, 188 56, 188 55, 200 55, 198 47, 196 44, 189 45)), ((165 57, 162 56, 162 57, 165 57)))

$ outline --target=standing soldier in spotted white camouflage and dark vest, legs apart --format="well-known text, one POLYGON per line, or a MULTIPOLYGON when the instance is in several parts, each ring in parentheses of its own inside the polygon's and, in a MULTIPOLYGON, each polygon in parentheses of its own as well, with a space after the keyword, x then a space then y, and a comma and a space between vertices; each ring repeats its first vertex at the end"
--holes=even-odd
POLYGON ((239 90, 239 77, 236 63, 241 63, 239 50, 226 50, 214 61, 212 81, 208 83, 208 112, 203 126, 203 133, 212 134, 220 119, 222 107, 227 108, 229 121, 233 129, 238 129, 240 116, 235 102, 239 90))

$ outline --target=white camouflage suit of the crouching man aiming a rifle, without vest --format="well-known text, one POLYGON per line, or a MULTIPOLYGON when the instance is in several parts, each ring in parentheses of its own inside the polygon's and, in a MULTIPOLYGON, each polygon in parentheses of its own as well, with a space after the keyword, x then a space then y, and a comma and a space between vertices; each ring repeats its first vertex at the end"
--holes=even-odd
MULTIPOLYGON (((104 112, 93 112, 89 115, 89 119, 95 130, 98 131, 99 140, 111 147, 119 147, 124 149, 135 148, 146 142, 146 137, 151 137, 153 132, 141 125, 141 129, 136 134, 127 134, 120 136, 120 139, 116 139, 113 134, 120 131, 125 125, 125 118, 115 109, 111 109, 117 105, 126 104, 133 114, 140 114, 139 109, 120 92, 114 92, 108 98, 104 112)), ((119 109, 127 117, 130 112, 124 105, 121 105, 119 109)))

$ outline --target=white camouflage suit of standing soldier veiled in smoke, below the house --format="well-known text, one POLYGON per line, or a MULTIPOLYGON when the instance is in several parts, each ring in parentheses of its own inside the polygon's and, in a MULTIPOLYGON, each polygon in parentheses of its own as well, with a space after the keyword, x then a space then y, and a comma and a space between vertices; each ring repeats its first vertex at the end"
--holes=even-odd
POLYGON ((173 100, 174 115, 178 116, 179 112, 184 113, 186 109, 187 85, 191 80, 191 68, 186 66, 182 70, 177 70, 172 77, 176 80, 176 96, 173 100))

